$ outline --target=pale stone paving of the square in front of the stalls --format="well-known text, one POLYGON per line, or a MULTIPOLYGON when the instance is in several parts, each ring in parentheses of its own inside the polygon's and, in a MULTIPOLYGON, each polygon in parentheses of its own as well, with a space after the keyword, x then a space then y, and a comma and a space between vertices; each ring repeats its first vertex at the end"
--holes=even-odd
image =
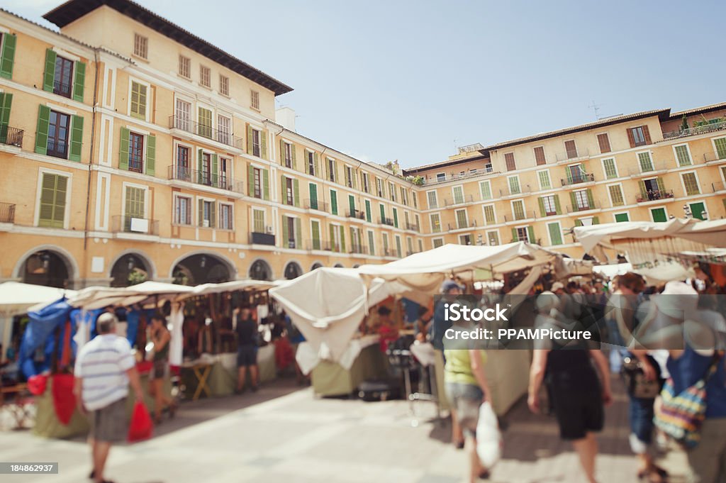
MULTIPOLYGON (((115 447, 107 477, 117 483, 395 482, 457 483, 465 455, 449 444, 449 426, 427 417, 417 403, 414 418, 403 401, 365 403, 316 399, 311 389, 278 381, 248 394, 185 403, 157 436, 115 447)), ((576 455, 560 442, 552 418, 532 415, 520 402, 505 418, 504 457, 493 482, 582 482, 576 455)), ((597 474, 601 483, 637 481, 627 443, 627 399, 616 395, 600 434, 597 474)), ((5 483, 87 481, 88 448, 82 440, 33 437, 5 431, 2 461, 58 461, 58 475, 3 475, 5 483)), ((661 463, 682 482, 683 455, 661 463)))

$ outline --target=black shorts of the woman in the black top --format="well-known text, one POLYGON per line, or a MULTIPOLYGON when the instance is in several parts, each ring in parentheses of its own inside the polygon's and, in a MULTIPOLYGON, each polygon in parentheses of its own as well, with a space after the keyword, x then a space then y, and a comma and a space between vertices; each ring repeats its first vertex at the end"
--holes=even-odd
POLYGON ((563 390, 552 386, 552 409, 562 439, 582 439, 590 431, 602 431, 605 423, 600 388, 591 391, 563 390))

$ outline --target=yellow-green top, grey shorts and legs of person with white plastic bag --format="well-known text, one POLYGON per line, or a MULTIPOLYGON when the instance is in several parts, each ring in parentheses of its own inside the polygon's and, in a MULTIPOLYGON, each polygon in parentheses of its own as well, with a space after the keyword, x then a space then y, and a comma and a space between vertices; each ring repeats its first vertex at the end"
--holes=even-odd
POLYGON ((464 431, 465 448, 470 459, 469 481, 473 483, 489 476, 489 471, 481 465, 476 454, 479 406, 489 394, 489 383, 484 374, 486 353, 481 349, 446 349, 444 357, 446 397, 452 405, 453 418, 457 418, 464 431))

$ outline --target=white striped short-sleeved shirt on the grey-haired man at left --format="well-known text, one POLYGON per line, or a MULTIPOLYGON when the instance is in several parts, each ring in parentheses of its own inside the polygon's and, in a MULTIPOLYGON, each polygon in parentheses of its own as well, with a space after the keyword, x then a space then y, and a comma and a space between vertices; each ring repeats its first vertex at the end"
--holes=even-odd
POLYGON ((76 357, 74 375, 83 379, 83 405, 97 410, 129 394, 126 371, 136 365, 131 345, 115 333, 96 336, 76 357))

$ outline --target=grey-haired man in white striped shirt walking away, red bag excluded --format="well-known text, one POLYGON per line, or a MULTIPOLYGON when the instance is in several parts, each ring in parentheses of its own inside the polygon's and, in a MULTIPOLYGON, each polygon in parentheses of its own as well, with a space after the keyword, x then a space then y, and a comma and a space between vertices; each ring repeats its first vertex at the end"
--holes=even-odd
POLYGON ((91 423, 91 479, 98 483, 108 483, 103 479, 108 452, 113 443, 126 438, 129 429, 126 419, 129 383, 137 401, 143 401, 144 397, 131 345, 126 338, 116 335, 117 322, 110 312, 99 315, 96 321, 98 336, 78 352, 74 370, 73 393, 78 409, 82 413, 89 412, 91 423))

